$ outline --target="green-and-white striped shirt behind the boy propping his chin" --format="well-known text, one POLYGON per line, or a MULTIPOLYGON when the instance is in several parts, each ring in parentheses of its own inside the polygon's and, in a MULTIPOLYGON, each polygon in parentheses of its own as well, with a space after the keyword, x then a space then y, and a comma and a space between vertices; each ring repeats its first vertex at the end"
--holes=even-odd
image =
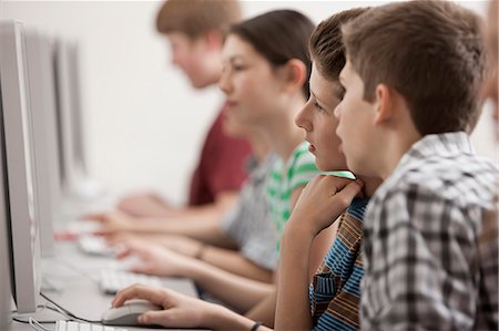
MULTIPOLYGON (((271 206, 272 220, 274 221, 278 238, 284 230, 284 225, 291 216, 291 197, 293 192, 305 186, 319 170, 315 166, 315 157, 308 152, 308 143, 299 144, 286 164, 282 159, 274 163, 274 167, 267 177, 267 198, 271 206)), ((279 240, 277 240, 277 249, 279 240)))

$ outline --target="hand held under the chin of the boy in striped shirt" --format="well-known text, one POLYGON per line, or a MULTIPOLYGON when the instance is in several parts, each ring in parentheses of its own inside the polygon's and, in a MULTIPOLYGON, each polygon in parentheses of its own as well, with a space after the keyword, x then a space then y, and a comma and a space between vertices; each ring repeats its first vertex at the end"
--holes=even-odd
POLYGON ((317 176, 302 190, 288 226, 298 226, 299 231, 308 230, 315 237, 348 208, 363 186, 359 179, 317 176))

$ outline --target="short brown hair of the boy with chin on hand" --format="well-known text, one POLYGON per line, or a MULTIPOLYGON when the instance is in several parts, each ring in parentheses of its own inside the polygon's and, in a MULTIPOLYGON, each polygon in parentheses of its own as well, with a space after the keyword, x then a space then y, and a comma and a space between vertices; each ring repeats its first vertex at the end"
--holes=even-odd
POLYGON ((345 66, 345 45, 342 41, 342 24, 366 12, 368 8, 354 8, 335 13, 322 21, 312 33, 308 51, 315 68, 328 81, 338 81, 345 66))

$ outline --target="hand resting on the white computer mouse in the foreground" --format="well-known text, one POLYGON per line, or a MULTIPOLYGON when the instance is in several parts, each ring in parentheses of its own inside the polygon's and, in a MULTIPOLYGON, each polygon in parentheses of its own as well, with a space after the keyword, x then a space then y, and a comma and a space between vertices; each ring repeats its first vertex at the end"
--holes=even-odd
POLYGON ((161 306, 164 310, 149 311, 139 317, 143 324, 159 324, 165 328, 200 328, 206 325, 207 312, 213 304, 200 299, 190 298, 167 289, 156 289, 143 285, 134 285, 118 292, 112 301, 113 307, 122 306, 126 300, 145 299, 161 306))

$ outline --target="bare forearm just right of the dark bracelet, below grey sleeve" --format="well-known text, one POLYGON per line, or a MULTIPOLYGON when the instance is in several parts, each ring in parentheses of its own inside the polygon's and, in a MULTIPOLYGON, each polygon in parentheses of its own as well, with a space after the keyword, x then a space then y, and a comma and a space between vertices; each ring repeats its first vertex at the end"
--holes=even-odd
POLYGON ((200 254, 200 259, 212 266, 245 278, 267 283, 272 282, 274 273, 272 270, 255 265, 238 251, 212 246, 204 247, 203 249, 200 254))

